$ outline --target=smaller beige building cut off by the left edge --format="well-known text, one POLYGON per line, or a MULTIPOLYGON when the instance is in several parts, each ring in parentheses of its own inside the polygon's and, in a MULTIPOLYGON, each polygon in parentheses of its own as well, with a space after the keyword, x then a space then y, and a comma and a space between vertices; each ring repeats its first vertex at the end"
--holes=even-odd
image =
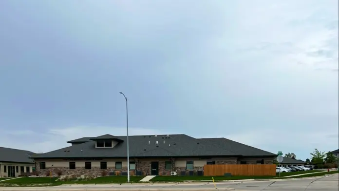
POLYGON ((32 152, 0 147, 0 177, 16 177, 35 171, 32 152))

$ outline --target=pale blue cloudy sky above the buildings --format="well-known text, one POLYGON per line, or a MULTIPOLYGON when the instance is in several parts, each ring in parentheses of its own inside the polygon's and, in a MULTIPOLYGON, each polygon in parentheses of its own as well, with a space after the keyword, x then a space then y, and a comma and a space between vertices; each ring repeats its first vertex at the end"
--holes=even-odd
POLYGON ((0 0, 0 146, 102 134, 339 147, 338 0, 0 0))

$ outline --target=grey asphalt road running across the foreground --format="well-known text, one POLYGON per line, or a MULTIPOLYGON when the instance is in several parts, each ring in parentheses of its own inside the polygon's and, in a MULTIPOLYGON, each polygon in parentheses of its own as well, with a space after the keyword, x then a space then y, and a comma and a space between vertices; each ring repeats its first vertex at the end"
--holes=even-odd
MULTIPOLYGON (((235 191, 338 191, 339 176, 333 174, 327 177, 307 179, 284 179, 266 181, 243 181, 217 183, 218 190, 235 191)), ((100 184, 100 185, 63 185, 57 187, 9 188, 2 187, 0 191, 175 191, 175 190, 215 190, 213 183, 157 183, 157 184, 100 184)))

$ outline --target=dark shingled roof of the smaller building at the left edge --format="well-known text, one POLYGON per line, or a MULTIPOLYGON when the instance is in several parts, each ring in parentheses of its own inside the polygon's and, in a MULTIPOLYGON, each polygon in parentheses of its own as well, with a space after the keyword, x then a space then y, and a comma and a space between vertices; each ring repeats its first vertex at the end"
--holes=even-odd
POLYGON ((34 163, 30 151, 0 147, 0 162, 34 163))

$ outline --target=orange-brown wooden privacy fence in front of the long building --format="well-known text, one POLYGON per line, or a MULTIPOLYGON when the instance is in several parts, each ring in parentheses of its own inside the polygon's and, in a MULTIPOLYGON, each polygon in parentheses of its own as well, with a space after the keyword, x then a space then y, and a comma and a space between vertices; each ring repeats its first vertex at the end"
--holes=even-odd
POLYGON ((275 176, 276 165, 205 165, 204 176, 275 176))

